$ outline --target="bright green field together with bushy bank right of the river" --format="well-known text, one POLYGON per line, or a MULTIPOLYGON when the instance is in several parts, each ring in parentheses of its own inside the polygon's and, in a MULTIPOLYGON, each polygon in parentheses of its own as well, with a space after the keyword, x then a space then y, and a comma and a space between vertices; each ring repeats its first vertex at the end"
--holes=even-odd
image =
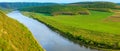
POLYGON ((107 12, 91 11, 91 15, 46 16, 38 13, 23 13, 45 24, 85 42, 85 44, 104 48, 120 48, 120 23, 105 22, 112 15, 107 12))

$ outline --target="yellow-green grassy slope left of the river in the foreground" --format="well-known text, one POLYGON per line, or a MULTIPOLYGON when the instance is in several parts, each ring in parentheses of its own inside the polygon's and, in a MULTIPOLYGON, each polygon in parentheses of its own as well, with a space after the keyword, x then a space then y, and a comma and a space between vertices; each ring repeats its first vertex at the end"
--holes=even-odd
POLYGON ((31 32, 0 11, 0 51, 43 51, 31 32))

